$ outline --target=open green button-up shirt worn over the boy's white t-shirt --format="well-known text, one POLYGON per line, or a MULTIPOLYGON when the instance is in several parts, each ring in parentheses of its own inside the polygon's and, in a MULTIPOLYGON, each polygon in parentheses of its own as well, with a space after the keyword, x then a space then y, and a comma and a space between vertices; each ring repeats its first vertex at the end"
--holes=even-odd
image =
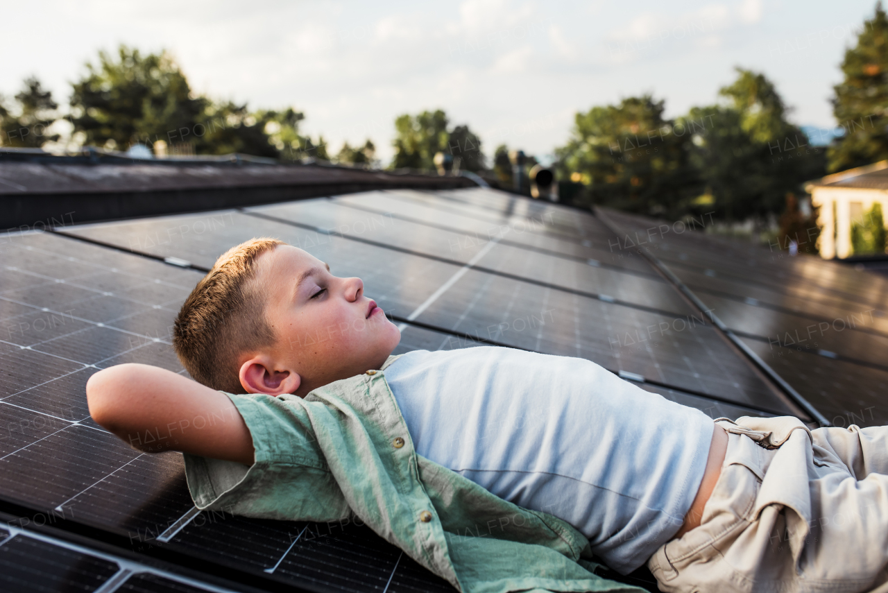
POLYGON ((305 396, 226 395, 255 462, 185 455, 199 509, 300 521, 358 518, 456 589, 642 591, 593 573, 589 541, 416 455, 383 368, 305 396))

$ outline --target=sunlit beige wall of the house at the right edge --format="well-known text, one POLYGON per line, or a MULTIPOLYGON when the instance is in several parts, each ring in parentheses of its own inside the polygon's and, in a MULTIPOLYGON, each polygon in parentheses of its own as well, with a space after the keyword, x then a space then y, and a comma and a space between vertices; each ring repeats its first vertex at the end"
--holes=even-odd
POLYGON ((821 257, 832 259, 851 255, 852 202, 860 202, 863 212, 870 210, 873 203, 879 202, 882 204, 882 224, 888 226, 888 190, 813 187, 811 203, 821 209, 817 217, 817 224, 821 227, 821 236, 817 241, 821 257), (833 220, 834 209, 836 220, 833 220))

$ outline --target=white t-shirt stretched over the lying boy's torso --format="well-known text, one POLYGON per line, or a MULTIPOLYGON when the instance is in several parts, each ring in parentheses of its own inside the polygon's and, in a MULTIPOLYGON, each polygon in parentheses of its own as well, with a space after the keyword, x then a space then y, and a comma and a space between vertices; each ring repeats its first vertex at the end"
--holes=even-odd
POLYGON ((385 379, 417 454, 564 519, 620 573, 678 532, 706 468, 709 416, 590 360, 419 350, 385 379))

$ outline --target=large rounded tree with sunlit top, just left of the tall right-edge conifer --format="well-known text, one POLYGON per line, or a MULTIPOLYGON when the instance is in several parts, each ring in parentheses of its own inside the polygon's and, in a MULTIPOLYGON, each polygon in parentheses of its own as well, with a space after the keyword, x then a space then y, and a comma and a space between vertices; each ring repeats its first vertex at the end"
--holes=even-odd
POLYGON ((805 179, 823 174, 824 154, 789 123, 765 75, 736 71, 718 93, 721 105, 694 107, 677 124, 691 131, 691 163, 706 188, 697 205, 728 220, 764 218, 783 210, 786 194, 805 179))

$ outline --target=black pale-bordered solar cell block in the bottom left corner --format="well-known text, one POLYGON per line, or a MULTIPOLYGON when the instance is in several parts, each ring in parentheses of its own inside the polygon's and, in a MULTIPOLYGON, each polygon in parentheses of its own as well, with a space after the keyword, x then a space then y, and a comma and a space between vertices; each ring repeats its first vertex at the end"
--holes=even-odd
POLYGON ((21 535, 0 545, 4 593, 89 592, 117 571, 114 562, 21 535))

